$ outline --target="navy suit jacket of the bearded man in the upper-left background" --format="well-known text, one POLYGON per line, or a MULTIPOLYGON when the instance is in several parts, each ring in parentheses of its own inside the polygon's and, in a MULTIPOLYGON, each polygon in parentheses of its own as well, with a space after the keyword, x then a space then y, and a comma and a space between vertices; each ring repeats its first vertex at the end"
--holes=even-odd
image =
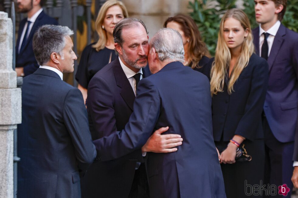
POLYGON ((58 25, 58 22, 54 18, 49 17, 47 14, 45 14, 42 11, 38 15, 38 17, 36 18, 36 21, 34 22, 34 24, 32 26, 32 29, 30 31, 28 39, 26 40, 26 44, 25 44, 24 48, 20 51, 20 53, 18 53, 19 45, 22 44, 22 43, 20 43, 20 39, 21 39, 22 32, 23 32, 26 22, 27 22, 27 18, 24 18, 20 22, 20 26, 19 26, 18 39, 16 41, 16 67, 24 67, 24 74, 25 74, 25 76, 28 76, 29 74, 32 74, 33 72, 35 72, 36 69, 38 69, 38 67, 39 67, 39 65, 36 62, 33 48, 32 48, 32 41, 33 41, 34 33, 37 31, 37 29, 40 26, 47 25, 47 24, 48 25, 58 25))

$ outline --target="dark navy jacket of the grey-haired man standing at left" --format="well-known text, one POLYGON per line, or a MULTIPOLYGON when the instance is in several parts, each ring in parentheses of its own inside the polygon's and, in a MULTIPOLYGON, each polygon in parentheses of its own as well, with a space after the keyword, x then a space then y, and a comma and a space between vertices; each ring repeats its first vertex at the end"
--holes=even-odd
POLYGON ((96 156, 87 112, 81 92, 51 70, 24 78, 18 155, 18 197, 81 196, 79 171, 96 156))

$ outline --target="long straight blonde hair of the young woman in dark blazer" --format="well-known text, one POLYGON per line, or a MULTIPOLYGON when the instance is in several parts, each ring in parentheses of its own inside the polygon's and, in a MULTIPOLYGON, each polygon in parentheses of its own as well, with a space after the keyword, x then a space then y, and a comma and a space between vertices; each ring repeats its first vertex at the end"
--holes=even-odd
POLYGON ((251 33, 251 26, 248 20, 247 15, 240 9, 233 8, 228 10, 223 18, 220 21, 220 30, 218 33, 217 47, 215 50, 215 59, 212 63, 211 69, 211 81, 210 89, 211 95, 217 94, 217 92, 223 92, 224 88, 224 78, 227 73, 227 68, 230 65, 231 53, 224 40, 224 22, 227 18, 234 18, 241 23, 241 26, 244 30, 248 29, 248 36, 244 39, 241 47, 240 56, 237 59, 237 62, 234 65, 234 68, 231 72, 230 80, 228 83, 228 93, 231 94, 234 91, 233 86, 237 81, 242 70, 248 65, 249 58, 252 53, 255 51, 253 44, 253 35, 251 33))

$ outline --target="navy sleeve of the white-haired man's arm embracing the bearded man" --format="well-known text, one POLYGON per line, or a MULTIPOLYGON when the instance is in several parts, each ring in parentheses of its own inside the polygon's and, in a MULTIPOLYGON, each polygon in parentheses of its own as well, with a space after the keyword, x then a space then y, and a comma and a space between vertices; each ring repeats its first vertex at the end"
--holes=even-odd
POLYGON ((160 112, 160 97, 156 87, 142 79, 137 88, 133 113, 122 131, 93 141, 97 159, 106 161, 140 149, 151 136, 160 112))

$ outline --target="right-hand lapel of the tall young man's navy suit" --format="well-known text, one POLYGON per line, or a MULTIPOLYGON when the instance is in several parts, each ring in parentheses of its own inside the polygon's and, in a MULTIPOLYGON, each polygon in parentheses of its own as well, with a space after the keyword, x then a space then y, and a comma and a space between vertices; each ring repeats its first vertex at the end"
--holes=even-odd
POLYGON ((269 72, 272 68, 273 62, 279 52, 280 47, 283 43, 283 36, 286 35, 286 28, 282 24, 280 24, 279 29, 274 37, 274 41, 272 44, 272 48, 268 57, 268 65, 269 65, 269 72))

